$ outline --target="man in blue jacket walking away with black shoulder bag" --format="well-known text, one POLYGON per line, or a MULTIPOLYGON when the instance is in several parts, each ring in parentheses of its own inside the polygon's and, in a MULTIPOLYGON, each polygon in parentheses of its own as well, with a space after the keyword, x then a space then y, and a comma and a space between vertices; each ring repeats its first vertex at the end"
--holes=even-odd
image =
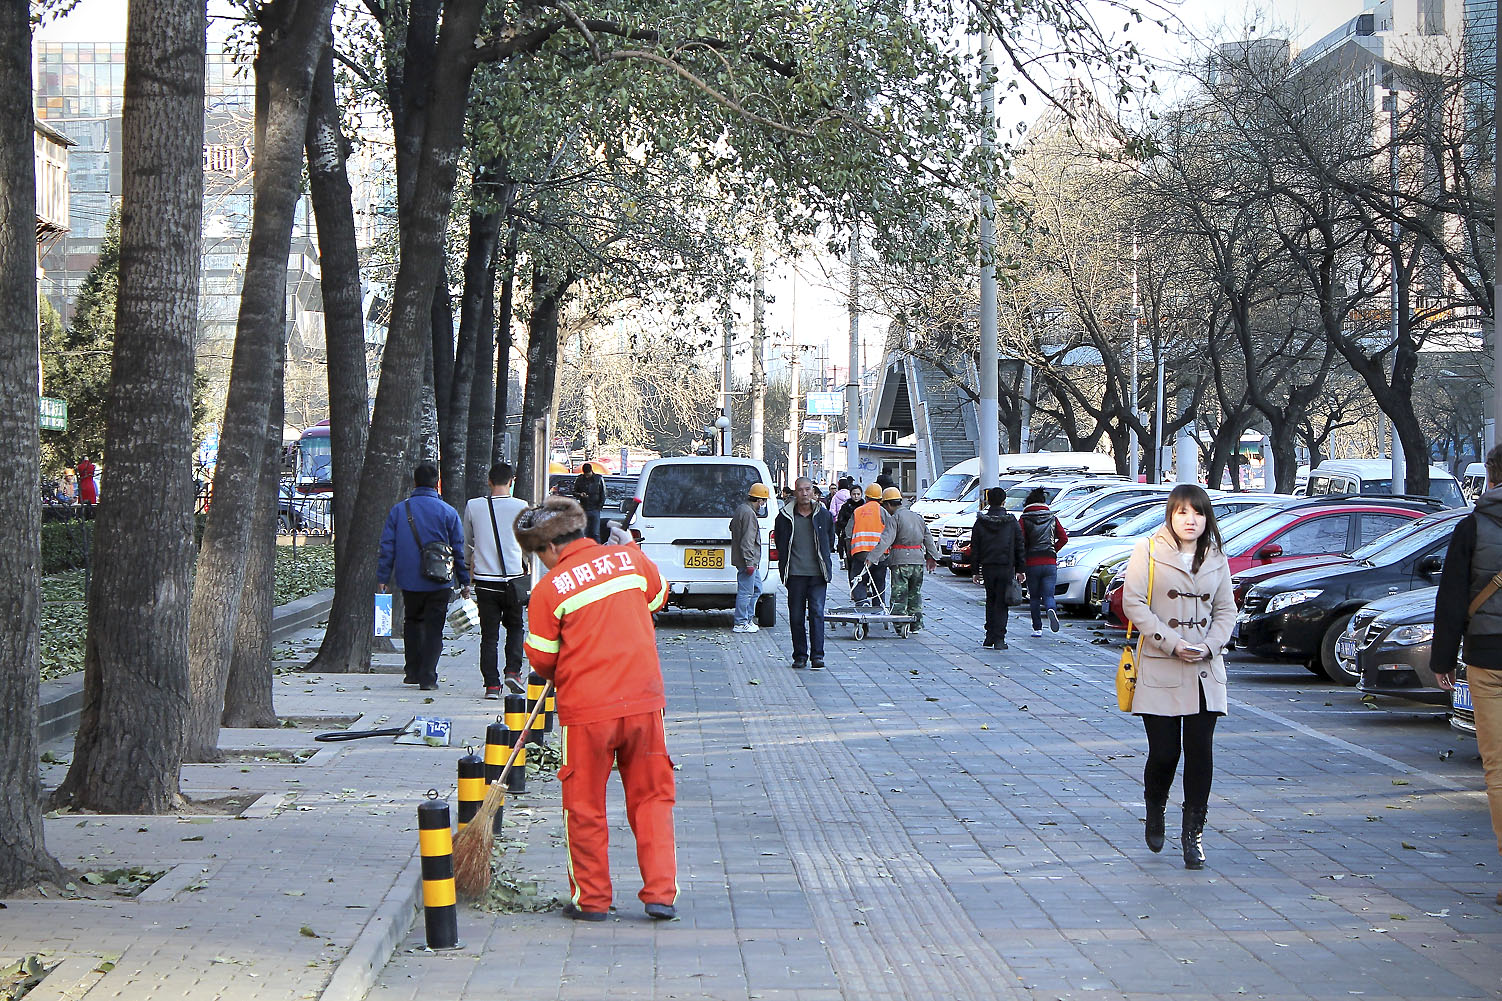
POLYGON ((422 691, 439 687, 439 657, 443 654, 443 619, 454 597, 454 582, 467 598, 469 568, 464 565, 464 528, 460 514, 439 497, 439 470, 424 463, 412 470, 412 496, 386 516, 380 534, 380 567, 377 579, 382 594, 391 586, 392 571, 406 607, 403 618, 403 649, 407 664, 404 684, 421 685, 422 691), (445 576, 436 570, 442 559, 433 550, 449 547, 452 567, 445 576), (424 547, 430 558, 424 559, 424 547))

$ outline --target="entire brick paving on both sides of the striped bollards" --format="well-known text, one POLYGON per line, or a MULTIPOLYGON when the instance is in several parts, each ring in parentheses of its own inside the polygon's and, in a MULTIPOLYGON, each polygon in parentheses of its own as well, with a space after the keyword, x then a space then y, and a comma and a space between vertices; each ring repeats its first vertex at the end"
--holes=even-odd
MULTIPOLYGON (((466 908, 464 948, 430 954, 419 918, 369 998, 1502 996, 1478 770, 1404 764, 1233 685, 1211 867, 1188 873, 1172 833, 1163 855, 1142 846, 1143 738, 1107 708, 1111 651, 1080 624, 1033 640, 1017 616, 1012 649, 982 651, 976 589, 939 576, 928 597, 909 640, 832 630, 823 673, 787 667, 786 624, 733 636, 724 616, 667 616, 680 920, 641 914, 616 788, 614 920, 466 908)), ((499 706, 478 697, 472 643, 442 673, 431 705, 395 673, 282 675, 278 711, 430 712, 478 741, 499 706)), ((225 745, 308 748, 317 729, 225 745)), ((318 998, 341 963, 329 996, 351 996, 354 959, 385 957, 383 902, 415 887, 416 803, 452 794, 460 752, 318 747, 185 768, 194 794, 264 794, 246 819, 48 821, 68 864, 176 866, 137 900, 11 902, 0 957, 72 957, 44 998, 318 998)), ((556 783, 506 816, 505 875, 562 896, 556 783)))

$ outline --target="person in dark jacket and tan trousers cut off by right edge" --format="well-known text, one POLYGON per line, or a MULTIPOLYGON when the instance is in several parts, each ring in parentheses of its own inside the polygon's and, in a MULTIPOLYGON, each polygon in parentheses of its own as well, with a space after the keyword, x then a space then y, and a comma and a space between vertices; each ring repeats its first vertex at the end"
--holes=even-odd
MULTIPOLYGON (((1487 490, 1449 537, 1434 595, 1430 666, 1440 688, 1455 687, 1455 658, 1466 640, 1466 688, 1476 715, 1476 748, 1485 774, 1491 830, 1502 852, 1502 445, 1487 452, 1487 490)), ((1502 891, 1497 893, 1502 903, 1502 891)))

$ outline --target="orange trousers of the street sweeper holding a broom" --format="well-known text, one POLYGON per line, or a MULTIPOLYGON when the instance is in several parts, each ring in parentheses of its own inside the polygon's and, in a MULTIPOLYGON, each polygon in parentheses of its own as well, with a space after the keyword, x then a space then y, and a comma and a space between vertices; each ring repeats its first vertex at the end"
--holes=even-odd
POLYGON ((608 911, 610 827, 605 783, 620 768, 626 821, 637 839, 643 903, 677 899, 677 848, 673 842, 673 761, 661 712, 563 727, 563 830, 568 837, 568 882, 580 911, 608 911))

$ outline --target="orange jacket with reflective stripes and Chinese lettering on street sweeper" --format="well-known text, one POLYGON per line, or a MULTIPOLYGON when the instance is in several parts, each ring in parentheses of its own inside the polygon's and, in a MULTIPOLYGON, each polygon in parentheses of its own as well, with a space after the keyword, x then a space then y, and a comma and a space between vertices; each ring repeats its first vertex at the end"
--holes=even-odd
POLYGON ((598 723, 667 705, 652 613, 667 583, 635 546, 581 538, 527 603, 527 661, 557 687, 559 723, 598 723))

